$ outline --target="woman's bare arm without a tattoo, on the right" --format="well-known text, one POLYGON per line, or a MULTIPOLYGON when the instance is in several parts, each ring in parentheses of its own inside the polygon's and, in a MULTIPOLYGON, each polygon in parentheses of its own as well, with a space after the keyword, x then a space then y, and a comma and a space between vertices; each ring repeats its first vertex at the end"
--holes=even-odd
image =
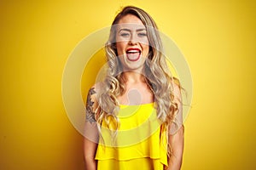
POLYGON ((184 127, 183 127, 183 105, 181 90, 178 83, 173 83, 174 102, 177 103, 177 124, 171 125, 169 129, 168 144, 172 149, 172 155, 168 159, 168 170, 180 170, 183 161, 184 127))

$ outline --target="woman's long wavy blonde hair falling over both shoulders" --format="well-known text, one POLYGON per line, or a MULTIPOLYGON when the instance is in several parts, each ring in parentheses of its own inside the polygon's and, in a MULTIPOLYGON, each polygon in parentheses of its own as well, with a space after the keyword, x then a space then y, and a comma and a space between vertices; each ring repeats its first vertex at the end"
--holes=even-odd
POLYGON ((174 122, 175 114, 177 112, 177 103, 173 102, 174 94, 172 93, 172 82, 179 82, 172 77, 169 67, 166 64, 166 57, 161 53, 163 50, 160 34, 157 31, 154 20, 143 9, 127 6, 123 8, 113 20, 108 42, 105 44, 105 51, 108 59, 108 71, 105 80, 100 86, 100 93, 98 96, 98 104, 100 111, 96 116, 98 129, 101 130, 101 123, 104 119, 107 123, 109 120, 115 124, 115 134, 119 127, 119 101, 117 96, 125 93, 125 80, 120 70, 121 63, 118 59, 116 49, 116 25, 119 20, 127 14, 133 14, 142 20, 143 25, 146 26, 149 42, 148 59, 145 62, 143 74, 148 87, 154 93, 154 108, 157 112, 157 117, 162 123, 162 127, 167 127, 174 122), (109 119, 109 116, 111 119, 109 119))

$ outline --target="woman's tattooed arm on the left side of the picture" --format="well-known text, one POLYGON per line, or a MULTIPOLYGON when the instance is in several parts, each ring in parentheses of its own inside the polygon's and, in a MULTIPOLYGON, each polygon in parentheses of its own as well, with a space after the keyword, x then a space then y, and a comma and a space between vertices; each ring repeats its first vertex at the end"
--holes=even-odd
POLYGON ((96 91, 90 88, 86 101, 86 120, 84 124, 84 162, 85 170, 96 170, 95 160, 98 143, 98 131, 96 127, 96 91))

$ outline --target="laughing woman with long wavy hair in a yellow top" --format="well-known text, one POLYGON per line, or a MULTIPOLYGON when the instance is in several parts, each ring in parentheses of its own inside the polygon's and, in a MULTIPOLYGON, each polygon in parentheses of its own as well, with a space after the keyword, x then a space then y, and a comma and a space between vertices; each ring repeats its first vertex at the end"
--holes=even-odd
POLYGON ((180 169, 180 86, 161 53, 154 20, 141 8, 123 8, 105 49, 107 76, 87 96, 86 169, 180 169))

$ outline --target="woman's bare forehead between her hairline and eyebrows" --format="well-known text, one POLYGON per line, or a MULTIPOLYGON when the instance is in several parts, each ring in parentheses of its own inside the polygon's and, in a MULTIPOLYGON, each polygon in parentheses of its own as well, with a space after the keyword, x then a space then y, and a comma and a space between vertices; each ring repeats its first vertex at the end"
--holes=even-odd
POLYGON ((137 18, 137 16, 133 14, 126 14, 119 20, 117 28, 119 30, 122 28, 145 29, 146 27, 143 25, 143 21, 137 18))

